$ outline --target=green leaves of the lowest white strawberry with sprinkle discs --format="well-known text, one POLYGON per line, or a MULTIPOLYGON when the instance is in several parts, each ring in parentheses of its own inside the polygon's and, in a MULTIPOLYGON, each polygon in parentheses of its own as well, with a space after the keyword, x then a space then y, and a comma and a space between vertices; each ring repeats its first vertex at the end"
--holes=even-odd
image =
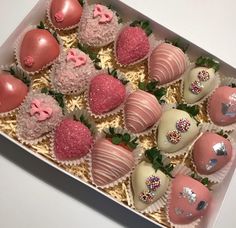
POLYGON ((158 150, 156 147, 153 147, 145 151, 145 156, 152 163, 152 167, 155 169, 155 171, 161 170, 167 176, 173 178, 173 176, 171 175, 171 172, 173 171, 174 166, 171 163, 167 165, 163 164, 163 161, 162 161, 163 156, 160 153, 160 150, 158 150))

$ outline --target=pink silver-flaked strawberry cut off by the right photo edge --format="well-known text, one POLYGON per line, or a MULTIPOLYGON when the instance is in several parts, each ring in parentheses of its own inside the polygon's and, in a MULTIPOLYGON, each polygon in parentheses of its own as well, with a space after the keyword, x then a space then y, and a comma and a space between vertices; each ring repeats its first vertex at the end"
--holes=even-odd
POLYGON ((236 122, 236 88, 222 86, 215 90, 208 102, 213 123, 227 126, 236 122))

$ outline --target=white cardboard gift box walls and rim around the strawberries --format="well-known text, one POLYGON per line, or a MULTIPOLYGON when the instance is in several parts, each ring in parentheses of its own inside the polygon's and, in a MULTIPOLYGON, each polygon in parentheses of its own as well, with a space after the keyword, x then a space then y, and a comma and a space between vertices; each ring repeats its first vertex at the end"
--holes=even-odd
MULTIPOLYGON (((9 64, 13 61, 13 59, 14 59, 14 56, 13 56, 13 43, 15 42, 16 38, 18 37, 20 32, 25 27, 27 27, 29 24, 33 24, 33 25, 38 24, 38 22, 40 20, 42 20, 42 18, 45 15, 46 2, 47 2, 46 0, 39 0, 37 5, 31 10, 31 12, 28 14, 28 16, 22 21, 22 23, 11 34, 11 36, 7 39, 7 41, 4 43, 4 45, 1 46, 1 48, 0 48, 0 64, 1 65, 9 64)), ((90 1, 90 2, 92 2, 92 1, 90 1)), ((99 2, 105 2, 105 3, 109 2, 109 4, 112 4, 114 6, 114 8, 117 9, 117 11, 121 14, 121 16, 123 18, 127 18, 128 20, 133 19, 133 18, 135 18, 135 19, 150 19, 150 18, 144 16, 142 14, 142 12, 138 12, 138 11, 135 10, 135 1, 133 1, 132 4, 129 3, 129 5, 132 6, 133 8, 128 7, 127 5, 125 5, 123 3, 125 1, 103 0, 103 1, 99 1, 99 2)), ((152 21, 152 27, 153 27, 154 33, 157 34, 158 38, 160 38, 160 39, 171 38, 171 37, 178 36, 174 32, 172 32, 172 31, 166 29, 165 27, 163 27, 162 25, 158 24, 157 22, 152 21)), ((212 56, 207 51, 202 50, 201 48, 197 47, 196 45, 192 44, 191 42, 189 42, 189 43, 190 43, 190 48, 189 48, 190 57, 191 56, 196 57, 196 56, 200 56, 200 55, 210 55, 210 56, 212 56)), ((213 57, 217 58, 217 56, 213 56, 213 57)), ((225 75, 230 76, 230 77, 233 77, 234 75, 236 75, 236 70, 233 67, 231 67, 230 65, 228 65, 227 63, 225 63, 221 59, 220 59, 220 61, 221 61, 221 71, 225 75)), ((1 133, 1 134, 4 137, 8 138, 13 143, 15 143, 15 144, 19 145, 20 147, 24 148, 29 153, 31 153, 34 156, 38 157, 42 161, 48 163, 49 165, 55 167, 56 169, 59 169, 60 171, 64 172, 65 174, 77 179, 78 181, 83 182, 80 179, 73 176, 72 174, 70 174, 70 173, 66 172, 65 170, 61 169, 60 167, 56 166, 54 163, 51 163, 50 161, 48 161, 44 157, 30 151, 28 148, 22 146, 21 144, 19 144, 15 140, 9 138, 4 133, 1 133)), ((234 151, 234 152, 236 152, 236 151, 234 151)), ((235 166, 235 164, 234 164, 234 166, 235 166)), ((236 179, 236 174, 234 174, 234 166, 232 167, 231 171, 227 175, 227 178, 224 180, 224 182, 221 183, 221 185, 219 185, 217 187, 217 189, 214 191, 214 200, 213 200, 213 203, 212 203, 211 210, 209 211, 209 214, 203 219, 201 227, 213 227, 214 226, 214 224, 217 220, 217 217, 220 216, 220 213, 221 213, 220 208, 223 205, 224 198, 226 196, 232 194, 232 192, 234 191, 234 189, 230 186, 232 184, 232 180, 236 179)), ((88 185, 91 188, 94 188, 93 186, 91 186, 87 183, 84 183, 84 184, 88 185)), ((109 196, 105 195, 102 191, 99 191, 96 188, 94 188, 94 189, 96 191, 100 192, 101 194, 103 194, 105 197, 109 197, 109 196)), ((111 198, 111 197, 109 197, 109 198, 111 198)), ((114 202, 117 202, 117 201, 115 201, 114 198, 111 198, 111 199, 114 202)), ((119 202, 117 202, 117 203, 119 203, 119 202)), ((124 204, 121 204, 121 205, 128 208, 129 210, 132 210, 129 207, 125 206, 124 204)), ((134 211, 134 210, 132 210, 132 211, 134 211)), ((137 213, 136 211, 134 211, 134 212, 137 213)), ((139 215, 143 216, 142 214, 139 214, 139 215)), ((149 218, 147 218, 145 216, 143 216, 143 217, 145 219, 150 220, 149 218)), ((153 220, 150 220, 150 221, 154 222, 153 220)), ((158 225, 161 226, 160 224, 158 224, 158 225)))

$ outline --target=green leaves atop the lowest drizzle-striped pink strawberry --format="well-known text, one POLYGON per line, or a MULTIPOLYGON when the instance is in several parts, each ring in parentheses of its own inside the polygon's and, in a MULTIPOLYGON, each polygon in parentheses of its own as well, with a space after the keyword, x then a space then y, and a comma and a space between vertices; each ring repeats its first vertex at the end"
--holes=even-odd
POLYGON ((104 134, 106 135, 106 138, 111 139, 111 142, 114 145, 125 145, 127 146, 130 150, 134 150, 137 148, 138 143, 137 140, 138 138, 132 138, 130 134, 124 133, 124 134, 119 134, 115 132, 115 128, 109 127, 108 132, 103 131, 104 134))

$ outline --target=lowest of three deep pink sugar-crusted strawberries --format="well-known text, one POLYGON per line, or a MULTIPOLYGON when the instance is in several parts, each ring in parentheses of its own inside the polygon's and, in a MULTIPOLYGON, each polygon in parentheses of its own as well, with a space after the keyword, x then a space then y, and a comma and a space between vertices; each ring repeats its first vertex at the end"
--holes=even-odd
POLYGON ((54 153, 59 160, 74 160, 85 156, 91 148, 93 137, 81 122, 65 119, 56 128, 54 153))

